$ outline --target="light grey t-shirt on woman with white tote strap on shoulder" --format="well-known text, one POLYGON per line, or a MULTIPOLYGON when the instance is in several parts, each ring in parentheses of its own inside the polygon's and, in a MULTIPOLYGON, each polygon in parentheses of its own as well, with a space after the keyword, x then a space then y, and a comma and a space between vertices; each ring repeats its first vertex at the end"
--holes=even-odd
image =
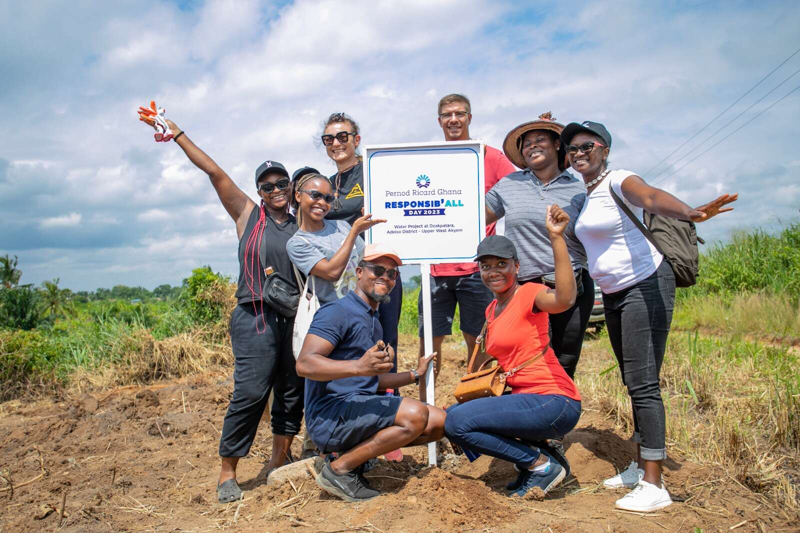
MULTIPOLYGON (((344 220, 323 220, 325 227, 319 231, 298 230, 289 242, 286 242, 286 252, 294 262, 294 266, 305 275, 309 275, 322 259, 329 259, 342 247, 347 234, 350 233, 350 224, 344 220)), ((336 282, 326 279, 314 278, 314 287, 317 290, 317 298, 320 303, 333 302, 342 298, 355 288, 355 267, 358 266, 358 258, 363 254, 364 240, 361 237, 355 239, 353 250, 350 251, 350 259, 347 261, 342 277, 336 282)), ((301 287, 302 289, 302 287, 301 287)))

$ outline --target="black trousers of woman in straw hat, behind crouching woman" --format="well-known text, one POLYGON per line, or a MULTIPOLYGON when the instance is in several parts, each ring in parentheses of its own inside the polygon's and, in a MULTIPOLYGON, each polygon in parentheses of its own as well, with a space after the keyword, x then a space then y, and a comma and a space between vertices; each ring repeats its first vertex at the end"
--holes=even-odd
MULTIPOLYGON (((574 305, 562 313, 550 315, 550 346, 570 379, 575 377, 578 359, 581 358, 583 336, 586 335, 586 327, 589 326, 594 307, 594 280, 586 269, 583 270, 581 281, 583 293, 575 299, 574 305)), ((542 283, 541 278, 522 283, 531 282, 542 283)))

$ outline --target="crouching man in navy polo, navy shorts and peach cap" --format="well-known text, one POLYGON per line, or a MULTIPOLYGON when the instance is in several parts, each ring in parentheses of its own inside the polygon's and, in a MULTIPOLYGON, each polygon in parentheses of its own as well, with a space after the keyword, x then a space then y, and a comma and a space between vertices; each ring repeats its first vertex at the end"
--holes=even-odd
POLYGON ((378 305, 389 299, 400 258, 388 246, 366 246, 358 282, 342 299, 320 307, 298 356, 306 379, 306 426, 328 456, 317 484, 330 495, 361 502, 380 495, 362 475, 368 460, 400 447, 442 439, 445 412, 415 399, 378 396, 378 389, 419 383, 434 354, 412 371, 390 373, 394 350, 382 340, 378 305))

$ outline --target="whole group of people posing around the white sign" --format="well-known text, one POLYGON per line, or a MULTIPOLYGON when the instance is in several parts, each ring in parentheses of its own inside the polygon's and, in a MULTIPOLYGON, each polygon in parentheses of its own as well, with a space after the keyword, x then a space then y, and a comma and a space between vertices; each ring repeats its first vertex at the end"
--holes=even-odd
MULTIPOLYGON (((464 95, 439 101, 446 141, 469 139, 471 121, 464 95)), ((670 505, 661 476, 666 419, 658 375, 675 276, 614 197, 639 218, 646 210, 703 222, 731 210, 736 194, 693 208, 634 172, 612 170, 611 135, 597 122, 562 126, 548 113, 515 127, 502 151, 486 146, 486 238, 476 262, 431 267, 434 354, 423 351, 420 295, 418 365, 398 369, 402 262, 390 242, 365 246, 362 238, 386 221, 363 212, 354 119, 334 113, 322 122, 320 139, 335 174, 305 166, 290 175, 279 162, 266 161, 255 173, 258 204, 168 123, 174 141, 208 174, 239 241, 238 307, 230 320, 234 392, 219 445, 220 502, 241 497, 238 459, 250 451, 267 408, 273 433, 267 469, 294 461, 291 444, 305 411, 302 458, 324 457, 318 485, 350 502, 380 494, 364 475, 374 458, 445 436, 456 450, 513 463, 518 476, 506 487, 509 495, 534 487, 546 494, 570 475, 562 439, 581 414, 573 377, 597 283, 638 449, 630 466, 604 485, 632 489, 617 500, 621 509, 670 505), (501 219, 504 236, 495 234, 501 219), (309 281, 324 304, 296 354, 294 317, 266 298, 275 272, 296 287, 309 281), (508 371, 510 394, 442 410, 425 403, 424 381, 431 364, 434 374, 441 368, 442 340, 452 333, 457 305, 467 357, 482 340, 485 357, 508 371), (420 400, 399 394, 409 385, 419 387, 420 400)))

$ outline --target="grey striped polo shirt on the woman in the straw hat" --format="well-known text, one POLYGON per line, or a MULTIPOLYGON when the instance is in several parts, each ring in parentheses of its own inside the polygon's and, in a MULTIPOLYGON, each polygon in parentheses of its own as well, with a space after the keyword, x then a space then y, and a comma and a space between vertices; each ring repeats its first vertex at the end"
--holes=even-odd
POLYGON ((564 237, 573 267, 586 267, 586 251, 575 236, 575 221, 584 202, 586 186, 566 170, 544 187, 530 169, 519 170, 502 178, 486 193, 486 207, 498 218, 506 218, 506 237, 514 242, 519 256, 520 281, 555 271, 553 248, 545 226, 547 206, 552 203, 570 215, 564 237))

